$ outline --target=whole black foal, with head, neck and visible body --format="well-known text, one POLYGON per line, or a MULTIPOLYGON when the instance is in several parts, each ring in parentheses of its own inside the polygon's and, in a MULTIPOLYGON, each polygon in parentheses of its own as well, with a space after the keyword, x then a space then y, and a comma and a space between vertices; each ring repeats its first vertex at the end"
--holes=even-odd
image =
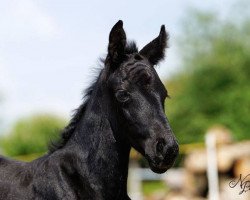
POLYGON ((104 68, 61 141, 30 163, 0 158, 0 199, 129 199, 131 147, 154 172, 169 169, 178 144, 164 113, 168 93, 154 69, 166 46, 162 26, 159 36, 138 51, 118 21, 104 68))

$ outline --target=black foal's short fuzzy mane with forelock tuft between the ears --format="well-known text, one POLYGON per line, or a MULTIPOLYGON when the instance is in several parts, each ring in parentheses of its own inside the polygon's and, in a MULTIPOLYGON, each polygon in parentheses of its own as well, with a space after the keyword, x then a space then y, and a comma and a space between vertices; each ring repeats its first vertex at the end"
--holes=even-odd
MULTIPOLYGON (((138 53, 138 48, 136 46, 136 43, 134 41, 128 42, 124 49, 124 53, 125 54, 138 53)), ((103 66, 105 67, 105 59, 100 59, 100 61, 102 63, 102 68, 103 66)), ((100 74, 102 70, 98 70, 98 71, 100 74)), ((52 141, 49 144, 49 151, 48 151, 49 154, 55 152, 58 149, 63 148, 65 144, 68 142, 68 140, 70 139, 70 137, 72 136, 72 134, 74 133, 77 127, 77 124, 81 120, 82 116, 85 114, 92 92, 97 85, 98 78, 99 76, 97 76, 96 80, 85 90, 85 95, 83 97, 84 102, 79 106, 79 108, 77 108, 74 111, 74 114, 72 115, 72 118, 69 124, 62 130, 59 140, 52 141)))

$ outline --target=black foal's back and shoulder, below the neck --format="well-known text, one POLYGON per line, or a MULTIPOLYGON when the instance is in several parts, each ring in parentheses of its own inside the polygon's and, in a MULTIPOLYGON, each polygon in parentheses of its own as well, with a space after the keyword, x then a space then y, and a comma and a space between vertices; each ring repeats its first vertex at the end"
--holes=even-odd
MULTIPOLYGON (((0 156, 0 200, 90 200, 79 181, 73 158, 64 162, 67 153, 45 155, 31 162, 20 162, 0 156)), ((90 190, 88 190, 90 191, 90 190)), ((98 198, 95 198, 98 199, 98 198)))

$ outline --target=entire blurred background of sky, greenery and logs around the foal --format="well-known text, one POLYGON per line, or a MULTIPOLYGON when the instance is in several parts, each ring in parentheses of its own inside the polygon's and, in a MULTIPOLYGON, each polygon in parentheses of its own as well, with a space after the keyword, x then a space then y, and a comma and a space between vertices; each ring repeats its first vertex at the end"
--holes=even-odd
POLYGON ((1 155, 46 153, 81 104, 119 19, 139 48, 165 24, 170 48, 157 71, 180 156, 156 175, 132 151, 130 196, 250 199, 229 186, 250 173, 249 10, 248 0, 0 0, 1 155))

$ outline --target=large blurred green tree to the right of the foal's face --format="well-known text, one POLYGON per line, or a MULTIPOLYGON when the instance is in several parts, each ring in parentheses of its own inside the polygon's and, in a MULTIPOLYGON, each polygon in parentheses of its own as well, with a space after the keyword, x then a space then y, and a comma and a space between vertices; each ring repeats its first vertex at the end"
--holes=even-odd
POLYGON ((167 114, 181 143, 203 141, 222 124, 250 138, 250 20, 193 12, 179 40, 182 70, 166 82, 167 114))

